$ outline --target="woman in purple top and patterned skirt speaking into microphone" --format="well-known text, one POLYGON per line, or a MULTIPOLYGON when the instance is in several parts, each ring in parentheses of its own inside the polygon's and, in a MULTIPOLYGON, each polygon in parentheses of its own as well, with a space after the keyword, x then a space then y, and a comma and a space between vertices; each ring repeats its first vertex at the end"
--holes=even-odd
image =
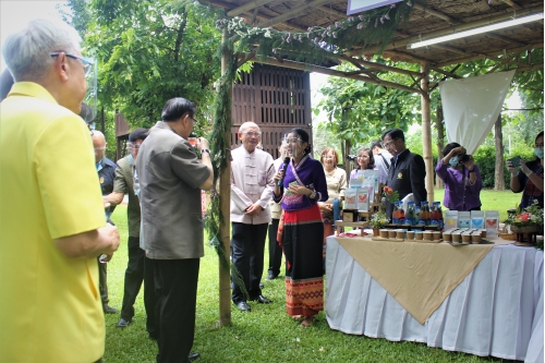
POLYGON ((274 193, 283 210, 277 239, 287 265, 286 311, 310 327, 324 310, 324 223, 317 203, 327 201, 327 183, 322 164, 311 157, 306 131, 293 129, 286 142, 292 159, 275 176, 274 193))

